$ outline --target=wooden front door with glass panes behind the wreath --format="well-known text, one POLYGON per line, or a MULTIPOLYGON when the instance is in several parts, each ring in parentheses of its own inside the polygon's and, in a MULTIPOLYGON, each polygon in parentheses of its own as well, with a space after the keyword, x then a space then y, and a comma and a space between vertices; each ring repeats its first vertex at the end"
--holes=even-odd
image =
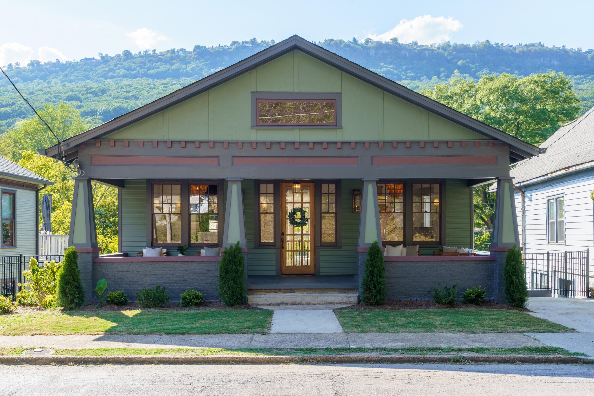
POLYGON ((314 183, 301 183, 301 192, 293 192, 293 183, 280 183, 280 272, 282 274, 314 274, 314 183), (293 208, 305 210, 305 227, 289 224, 293 208), (284 239, 284 241, 283 241, 284 239))

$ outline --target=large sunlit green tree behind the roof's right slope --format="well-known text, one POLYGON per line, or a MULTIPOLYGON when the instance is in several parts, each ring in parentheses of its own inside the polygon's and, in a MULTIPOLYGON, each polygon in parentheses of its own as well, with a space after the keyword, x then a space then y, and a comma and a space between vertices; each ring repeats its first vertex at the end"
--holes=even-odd
POLYGON ((484 75, 476 83, 456 78, 422 94, 535 145, 579 113, 579 100, 563 73, 520 78, 484 75))

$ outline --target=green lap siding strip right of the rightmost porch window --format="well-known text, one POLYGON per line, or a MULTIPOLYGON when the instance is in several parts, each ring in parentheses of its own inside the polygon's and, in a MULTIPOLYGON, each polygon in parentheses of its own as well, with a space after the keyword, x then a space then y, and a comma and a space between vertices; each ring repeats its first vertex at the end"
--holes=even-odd
POLYGON ((459 248, 472 247, 470 187, 466 180, 445 180, 445 243, 459 248))

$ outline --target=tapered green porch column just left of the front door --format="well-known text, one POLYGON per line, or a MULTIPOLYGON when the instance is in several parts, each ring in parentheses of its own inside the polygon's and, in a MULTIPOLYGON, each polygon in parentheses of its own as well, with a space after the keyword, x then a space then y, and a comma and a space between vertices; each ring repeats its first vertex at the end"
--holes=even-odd
POLYGON ((225 207, 225 229, 223 230, 223 248, 235 245, 247 247, 245 240, 244 198, 241 192, 243 179, 227 179, 227 203, 225 207))

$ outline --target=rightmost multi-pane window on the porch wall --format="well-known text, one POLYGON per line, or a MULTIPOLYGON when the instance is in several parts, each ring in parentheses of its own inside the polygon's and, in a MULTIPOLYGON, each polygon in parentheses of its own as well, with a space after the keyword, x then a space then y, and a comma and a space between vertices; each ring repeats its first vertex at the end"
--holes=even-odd
POLYGON ((440 240, 440 183, 412 185, 412 240, 440 240))

